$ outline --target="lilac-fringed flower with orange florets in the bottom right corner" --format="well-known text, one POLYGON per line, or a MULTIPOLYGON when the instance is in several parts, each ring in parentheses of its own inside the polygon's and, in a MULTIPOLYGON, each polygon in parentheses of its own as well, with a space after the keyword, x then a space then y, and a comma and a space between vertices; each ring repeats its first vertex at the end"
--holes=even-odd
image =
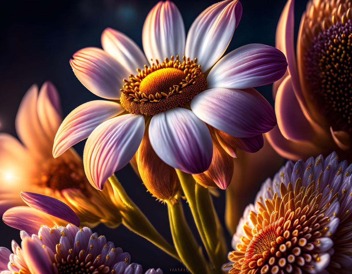
POLYGON ((233 235, 229 273, 351 273, 352 165, 333 152, 267 179, 233 235))

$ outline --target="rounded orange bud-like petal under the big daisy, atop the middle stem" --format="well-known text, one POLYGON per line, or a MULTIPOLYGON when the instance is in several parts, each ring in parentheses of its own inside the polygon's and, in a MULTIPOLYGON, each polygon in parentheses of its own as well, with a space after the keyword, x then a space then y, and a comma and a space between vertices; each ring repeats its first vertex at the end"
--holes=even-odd
POLYGON ((156 198, 174 203, 181 187, 174 168, 164 163, 153 150, 148 130, 136 153, 137 166, 145 187, 156 198))

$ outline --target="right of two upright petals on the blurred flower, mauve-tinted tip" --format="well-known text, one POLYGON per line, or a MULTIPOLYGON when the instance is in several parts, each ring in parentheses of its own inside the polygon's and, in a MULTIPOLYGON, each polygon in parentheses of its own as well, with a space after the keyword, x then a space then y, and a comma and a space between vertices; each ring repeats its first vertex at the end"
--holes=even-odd
POLYGON ((50 81, 46 81, 40 88, 37 111, 46 136, 51 142, 54 141, 56 131, 62 122, 62 109, 57 89, 50 81))

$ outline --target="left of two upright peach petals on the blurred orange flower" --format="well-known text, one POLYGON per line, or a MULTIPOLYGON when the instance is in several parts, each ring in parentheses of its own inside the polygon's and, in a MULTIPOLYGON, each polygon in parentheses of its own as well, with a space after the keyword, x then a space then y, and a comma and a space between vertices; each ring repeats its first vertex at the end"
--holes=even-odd
POLYGON ((46 136, 37 112, 38 86, 33 85, 23 96, 17 111, 15 127, 18 138, 36 157, 48 157, 52 141, 46 136))

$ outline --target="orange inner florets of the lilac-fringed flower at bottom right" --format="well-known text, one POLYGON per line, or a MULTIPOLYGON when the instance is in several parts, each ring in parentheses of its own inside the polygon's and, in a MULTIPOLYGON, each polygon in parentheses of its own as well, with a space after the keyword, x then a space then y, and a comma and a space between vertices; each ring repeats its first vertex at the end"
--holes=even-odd
POLYGON ((324 213, 336 195, 321 208, 316 183, 303 187, 300 178, 294 188, 281 183, 280 192, 283 198, 275 193, 265 205, 257 202, 258 213, 251 211, 254 228, 244 225, 247 237, 229 256, 234 262, 230 274, 302 273, 301 269, 313 269, 313 262, 321 260, 313 250, 329 230, 330 218, 324 213))

